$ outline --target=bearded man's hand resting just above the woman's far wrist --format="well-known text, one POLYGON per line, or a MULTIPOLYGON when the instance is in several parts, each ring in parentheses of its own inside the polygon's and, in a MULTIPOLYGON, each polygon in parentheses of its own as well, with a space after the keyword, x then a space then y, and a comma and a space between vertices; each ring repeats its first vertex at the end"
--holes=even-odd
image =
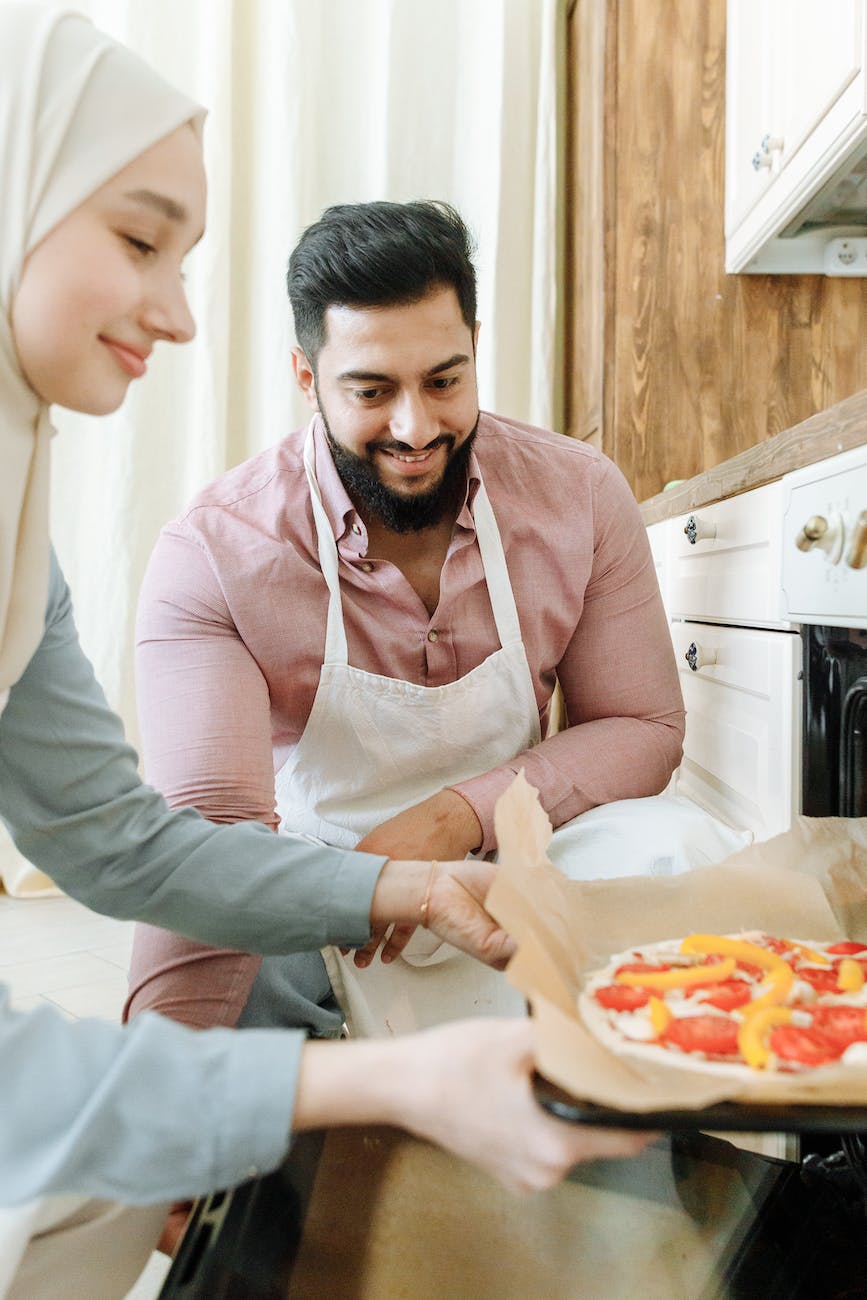
POLYGON ((389 858, 465 858, 480 848, 481 823, 467 800, 454 790, 439 790, 377 826, 356 844, 361 853, 389 858))

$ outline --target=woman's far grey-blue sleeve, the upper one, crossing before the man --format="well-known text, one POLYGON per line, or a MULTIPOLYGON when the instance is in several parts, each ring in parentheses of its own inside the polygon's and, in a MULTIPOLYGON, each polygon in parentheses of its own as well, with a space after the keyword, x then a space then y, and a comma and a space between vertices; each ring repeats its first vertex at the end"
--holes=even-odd
POLYGON ((86 659, 52 556, 45 634, 0 715, 0 818, 73 898, 208 944, 291 953, 364 944, 385 858, 170 811, 136 771, 86 659))

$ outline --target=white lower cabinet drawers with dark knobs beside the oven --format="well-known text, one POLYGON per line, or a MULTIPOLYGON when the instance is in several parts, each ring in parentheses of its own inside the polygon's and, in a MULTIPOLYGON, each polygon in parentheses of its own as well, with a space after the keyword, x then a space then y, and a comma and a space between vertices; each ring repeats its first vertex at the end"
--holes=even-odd
POLYGON ((801 636, 780 616, 781 534, 772 482, 651 536, 686 707, 675 789, 757 840, 799 811, 801 636))

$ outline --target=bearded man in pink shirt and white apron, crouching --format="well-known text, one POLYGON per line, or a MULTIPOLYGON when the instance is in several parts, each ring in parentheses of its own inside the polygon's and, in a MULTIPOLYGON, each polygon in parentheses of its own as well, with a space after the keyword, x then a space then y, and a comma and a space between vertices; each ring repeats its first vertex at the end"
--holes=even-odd
MULTIPOLYGON (((586 443, 478 411, 459 214, 329 208, 289 294, 311 422, 207 488, 144 580, 148 779, 216 822, 456 859, 495 850, 494 805, 524 768, 573 879, 740 846, 654 798, 684 708, 625 480, 586 443), (549 734, 558 681, 567 725, 549 734)), ((391 965, 381 937, 260 962, 140 927, 130 1008, 320 1035, 520 1013, 500 974, 426 933, 391 965)))

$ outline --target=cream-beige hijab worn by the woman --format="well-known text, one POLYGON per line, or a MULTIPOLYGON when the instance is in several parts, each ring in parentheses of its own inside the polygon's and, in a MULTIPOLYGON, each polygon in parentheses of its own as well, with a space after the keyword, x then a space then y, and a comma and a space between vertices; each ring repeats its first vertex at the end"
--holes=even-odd
POLYGON ((18 364, 12 302, 26 255, 117 172, 203 110, 81 14, 0 3, 0 708, 43 633, 44 402, 18 364))

